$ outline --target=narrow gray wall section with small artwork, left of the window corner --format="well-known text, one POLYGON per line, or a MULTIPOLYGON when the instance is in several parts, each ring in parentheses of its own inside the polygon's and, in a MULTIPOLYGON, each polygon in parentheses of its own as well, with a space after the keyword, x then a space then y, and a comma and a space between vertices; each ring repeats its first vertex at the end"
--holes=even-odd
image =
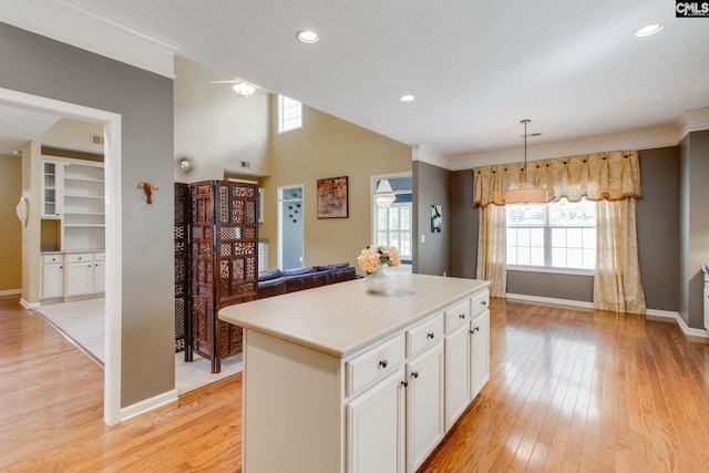
POLYGON ((413 162, 413 273, 449 273, 453 212, 451 172, 421 161, 413 162), (441 233, 431 233, 431 205, 441 205, 441 233), (425 243, 421 243, 421 235, 425 243))

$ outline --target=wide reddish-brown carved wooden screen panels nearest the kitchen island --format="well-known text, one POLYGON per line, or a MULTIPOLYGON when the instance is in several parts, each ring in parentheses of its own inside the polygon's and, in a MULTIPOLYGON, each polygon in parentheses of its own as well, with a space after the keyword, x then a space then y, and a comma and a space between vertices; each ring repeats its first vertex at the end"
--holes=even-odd
POLYGON ((257 297, 258 188, 210 181, 189 192, 193 348, 219 372, 223 358, 242 352, 243 333, 217 311, 257 297))

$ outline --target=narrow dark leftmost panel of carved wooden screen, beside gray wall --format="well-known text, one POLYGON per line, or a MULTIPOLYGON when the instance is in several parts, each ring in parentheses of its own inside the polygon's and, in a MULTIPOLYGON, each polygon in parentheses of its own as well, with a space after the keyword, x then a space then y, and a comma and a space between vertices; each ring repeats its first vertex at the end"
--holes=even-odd
POLYGON ((175 352, 184 351, 192 361, 189 332, 189 187, 175 183, 175 352))

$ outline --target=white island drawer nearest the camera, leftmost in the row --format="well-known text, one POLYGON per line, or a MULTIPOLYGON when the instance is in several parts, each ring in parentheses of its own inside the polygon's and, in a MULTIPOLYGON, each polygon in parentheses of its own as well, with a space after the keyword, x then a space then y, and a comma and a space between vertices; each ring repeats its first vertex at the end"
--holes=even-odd
POLYGON ((404 359, 404 338, 399 335, 347 362, 347 395, 392 372, 404 359))

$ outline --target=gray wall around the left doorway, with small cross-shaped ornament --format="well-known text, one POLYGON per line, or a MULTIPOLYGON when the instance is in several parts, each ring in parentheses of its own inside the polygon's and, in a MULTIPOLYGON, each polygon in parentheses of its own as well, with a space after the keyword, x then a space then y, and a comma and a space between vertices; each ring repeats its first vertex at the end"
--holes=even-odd
POLYGON ((174 389, 173 81, 0 23, 0 86, 121 114, 121 405, 174 389))

